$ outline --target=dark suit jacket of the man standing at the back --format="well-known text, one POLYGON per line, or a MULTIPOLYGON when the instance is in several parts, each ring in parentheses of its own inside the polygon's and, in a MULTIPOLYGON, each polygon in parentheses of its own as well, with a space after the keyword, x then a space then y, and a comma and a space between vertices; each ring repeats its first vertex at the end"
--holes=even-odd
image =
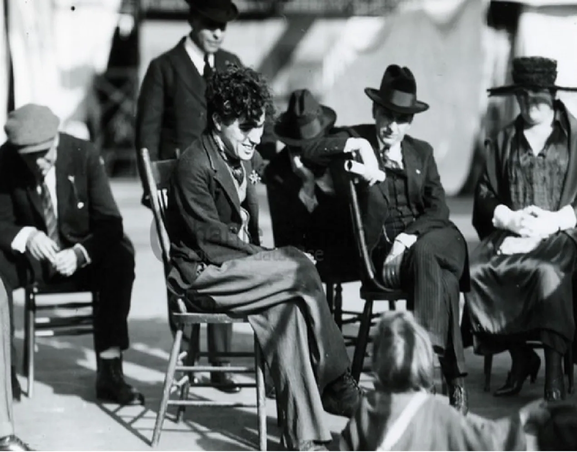
MULTIPOLYGON (((207 125, 206 82, 185 50, 185 38, 152 60, 138 96, 136 149, 147 148, 152 161, 174 159, 207 125)), ((237 55, 219 50, 215 70, 242 66, 237 55)))

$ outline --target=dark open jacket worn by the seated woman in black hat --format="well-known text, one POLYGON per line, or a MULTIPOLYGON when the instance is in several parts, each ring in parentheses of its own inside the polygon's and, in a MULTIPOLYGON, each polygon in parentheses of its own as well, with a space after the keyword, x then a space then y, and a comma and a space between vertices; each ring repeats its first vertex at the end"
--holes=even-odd
MULTIPOLYGON (((567 115, 569 125, 569 163, 561 191, 560 206, 570 204, 577 214, 577 119, 560 100, 556 101, 555 108, 567 115)), ((511 207, 508 165, 511 156, 511 144, 515 138, 518 122, 521 120, 522 118, 518 116, 514 122, 504 127, 494 140, 485 142, 485 170, 477 184, 473 204, 473 226, 481 240, 494 231, 492 220, 495 208, 499 204, 511 207)), ((567 233, 577 242, 577 228, 571 229, 567 233)))

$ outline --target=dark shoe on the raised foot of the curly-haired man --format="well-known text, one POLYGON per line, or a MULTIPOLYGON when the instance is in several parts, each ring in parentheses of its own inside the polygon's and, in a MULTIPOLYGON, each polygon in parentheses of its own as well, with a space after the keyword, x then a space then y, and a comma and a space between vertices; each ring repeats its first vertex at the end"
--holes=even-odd
POLYGON ((327 413, 336 416, 353 417, 363 396, 363 390, 350 371, 344 372, 323 391, 321 402, 327 413))

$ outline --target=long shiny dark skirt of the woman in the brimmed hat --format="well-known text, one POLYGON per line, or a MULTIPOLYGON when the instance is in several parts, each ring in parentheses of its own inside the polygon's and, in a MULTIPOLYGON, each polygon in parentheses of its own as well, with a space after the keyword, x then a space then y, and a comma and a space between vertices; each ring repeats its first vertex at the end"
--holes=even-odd
POLYGON ((575 242, 559 232, 530 253, 497 254, 510 235, 494 231, 470 256, 466 313, 475 352, 497 353, 511 341, 533 339, 564 354, 575 334, 575 242))

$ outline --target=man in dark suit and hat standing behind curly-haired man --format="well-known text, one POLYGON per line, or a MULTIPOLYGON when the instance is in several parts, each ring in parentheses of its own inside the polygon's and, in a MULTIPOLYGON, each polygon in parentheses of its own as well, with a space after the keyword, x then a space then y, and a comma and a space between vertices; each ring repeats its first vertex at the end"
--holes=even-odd
MULTIPOLYGON (((207 126, 207 81, 215 70, 224 70, 229 64, 242 66, 237 55, 220 48, 227 23, 238 16, 237 6, 231 0, 186 1, 192 30, 152 60, 138 96, 136 150, 147 148, 152 161, 175 159, 200 137, 207 126)), ((148 202, 143 197, 143 204, 148 202)), ((232 337, 231 325, 210 325, 209 353, 230 351, 232 337)), ((209 360, 214 366, 227 365, 215 357, 209 356, 209 360)), ((227 392, 240 390, 228 384, 234 382, 230 374, 215 373, 211 380, 226 383, 219 387, 227 392)))

